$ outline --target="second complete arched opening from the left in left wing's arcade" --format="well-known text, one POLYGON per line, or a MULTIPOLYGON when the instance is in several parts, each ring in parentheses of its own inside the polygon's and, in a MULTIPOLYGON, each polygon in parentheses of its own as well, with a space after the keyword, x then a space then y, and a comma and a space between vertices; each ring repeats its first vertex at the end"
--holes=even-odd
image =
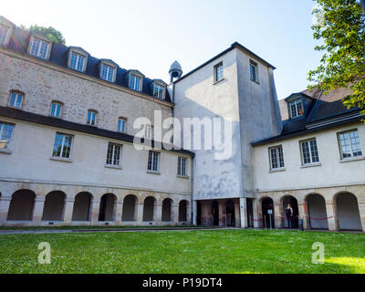
POLYGON ((46 196, 43 221, 63 221, 66 193, 55 191, 46 196))

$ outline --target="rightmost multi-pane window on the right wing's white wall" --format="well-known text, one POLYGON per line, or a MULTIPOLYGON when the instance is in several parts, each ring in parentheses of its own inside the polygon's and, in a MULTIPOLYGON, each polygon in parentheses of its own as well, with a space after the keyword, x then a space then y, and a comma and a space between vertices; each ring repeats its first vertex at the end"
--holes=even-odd
POLYGON ((339 133, 339 146, 342 159, 362 156, 358 130, 339 133))

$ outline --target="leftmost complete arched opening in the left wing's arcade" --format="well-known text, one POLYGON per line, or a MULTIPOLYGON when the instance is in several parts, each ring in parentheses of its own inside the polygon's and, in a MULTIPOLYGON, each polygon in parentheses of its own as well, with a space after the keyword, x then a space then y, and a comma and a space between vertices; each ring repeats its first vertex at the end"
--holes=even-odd
POLYGON ((19 190, 13 193, 7 213, 8 221, 32 221, 36 193, 30 190, 19 190))

